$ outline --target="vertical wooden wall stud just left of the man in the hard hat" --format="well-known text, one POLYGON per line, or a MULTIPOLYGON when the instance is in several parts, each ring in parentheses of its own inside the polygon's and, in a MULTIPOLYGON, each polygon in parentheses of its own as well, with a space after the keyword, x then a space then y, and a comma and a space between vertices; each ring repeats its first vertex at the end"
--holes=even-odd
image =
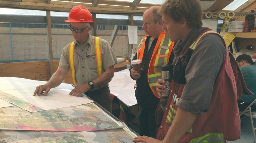
POLYGON ((46 11, 47 41, 49 48, 49 76, 53 74, 52 37, 51 37, 51 13, 46 11))

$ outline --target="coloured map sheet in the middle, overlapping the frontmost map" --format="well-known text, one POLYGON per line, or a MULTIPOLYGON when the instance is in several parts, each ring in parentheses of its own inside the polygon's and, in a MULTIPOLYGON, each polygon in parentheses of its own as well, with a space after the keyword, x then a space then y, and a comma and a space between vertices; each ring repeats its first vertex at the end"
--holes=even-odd
POLYGON ((87 132, 124 126, 94 103, 32 113, 17 106, 0 108, 0 130, 87 132))

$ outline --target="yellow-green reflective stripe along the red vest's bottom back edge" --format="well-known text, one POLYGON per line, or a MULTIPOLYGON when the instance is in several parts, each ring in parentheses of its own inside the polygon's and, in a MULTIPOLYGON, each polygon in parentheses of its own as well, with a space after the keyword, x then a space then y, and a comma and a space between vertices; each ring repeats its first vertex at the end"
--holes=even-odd
POLYGON ((204 136, 193 138, 189 143, 224 143, 224 135, 220 133, 208 133, 204 136))

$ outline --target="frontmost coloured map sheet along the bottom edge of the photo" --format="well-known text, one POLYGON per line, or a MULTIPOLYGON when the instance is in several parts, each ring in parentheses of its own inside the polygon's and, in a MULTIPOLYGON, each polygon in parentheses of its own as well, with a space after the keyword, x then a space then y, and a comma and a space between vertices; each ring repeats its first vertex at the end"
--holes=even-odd
MULTIPOLYGON (((136 135, 127 132, 128 128, 93 131, 93 132, 63 132, 63 131, 0 131, 0 142, 4 143, 132 143, 136 135)), ((129 130, 129 129, 128 129, 129 130)))

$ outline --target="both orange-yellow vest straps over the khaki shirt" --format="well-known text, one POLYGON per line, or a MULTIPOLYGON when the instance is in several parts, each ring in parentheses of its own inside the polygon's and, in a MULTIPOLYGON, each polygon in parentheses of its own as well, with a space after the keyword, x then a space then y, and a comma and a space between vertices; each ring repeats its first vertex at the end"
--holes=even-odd
MULTIPOLYGON (((69 66, 72 76, 72 81, 75 86, 77 86, 75 80, 75 64, 74 64, 74 43, 73 41, 69 46, 69 66)), ((102 74, 102 59, 101 59, 101 48, 100 48, 100 38, 94 37, 94 45, 95 45, 95 54, 96 54, 96 64, 97 64, 97 73, 98 76, 102 74)))

